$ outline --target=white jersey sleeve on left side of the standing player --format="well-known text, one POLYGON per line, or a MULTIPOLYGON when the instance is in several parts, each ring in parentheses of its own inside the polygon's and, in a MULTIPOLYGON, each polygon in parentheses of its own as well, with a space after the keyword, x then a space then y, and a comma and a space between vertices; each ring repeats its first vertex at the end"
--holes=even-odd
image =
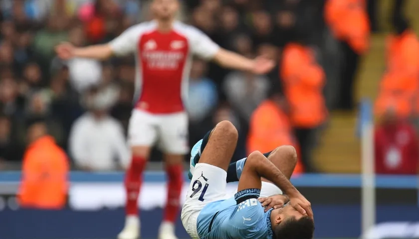
POLYGON ((143 27, 138 25, 131 26, 122 32, 121 35, 109 42, 112 52, 116 56, 125 56, 130 53, 134 53, 137 49, 137 40, 141 34, 142 28, 143 27))

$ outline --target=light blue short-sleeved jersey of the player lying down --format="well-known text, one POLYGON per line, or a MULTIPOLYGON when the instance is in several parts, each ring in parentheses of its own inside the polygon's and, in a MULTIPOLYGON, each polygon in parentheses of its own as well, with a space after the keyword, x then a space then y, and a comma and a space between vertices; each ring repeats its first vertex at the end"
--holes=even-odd
POLYGON ((234 198, 208 204, 197 220, 201 239, 272 239, 270 215, 257 201, 259 189, 246 189, 234 198))

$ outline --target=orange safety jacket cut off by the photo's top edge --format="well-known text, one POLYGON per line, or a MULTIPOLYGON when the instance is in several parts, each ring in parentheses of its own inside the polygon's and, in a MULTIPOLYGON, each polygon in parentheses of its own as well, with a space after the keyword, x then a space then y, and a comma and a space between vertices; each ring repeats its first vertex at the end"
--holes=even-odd
POLYGON ((327 0, 325 20, 333 35, 348 42, 358 54, 370 45, 370 24, 365 0, 327 0))

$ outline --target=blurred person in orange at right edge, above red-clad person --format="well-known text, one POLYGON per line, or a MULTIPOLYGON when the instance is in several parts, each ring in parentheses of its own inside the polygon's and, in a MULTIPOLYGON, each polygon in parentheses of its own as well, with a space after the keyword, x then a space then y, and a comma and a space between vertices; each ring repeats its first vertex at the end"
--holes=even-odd
POLYGON ((407 119, 419 112, 419 40, 409 21, 394 19, 395 33, 387 38, 386 72, 380 83, 375 114, 393 107, 398 117, 407 119))

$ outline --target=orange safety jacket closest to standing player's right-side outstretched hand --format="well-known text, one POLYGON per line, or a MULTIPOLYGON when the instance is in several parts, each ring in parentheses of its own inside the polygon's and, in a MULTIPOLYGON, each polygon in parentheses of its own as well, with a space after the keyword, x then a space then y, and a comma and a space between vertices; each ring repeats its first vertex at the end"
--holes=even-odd
POLYGON ((283 50, 281 77, 292 125, 312 128, 322 124, 328 114, 323 97, 325 74, 311 49, 287 44, 283 50))

